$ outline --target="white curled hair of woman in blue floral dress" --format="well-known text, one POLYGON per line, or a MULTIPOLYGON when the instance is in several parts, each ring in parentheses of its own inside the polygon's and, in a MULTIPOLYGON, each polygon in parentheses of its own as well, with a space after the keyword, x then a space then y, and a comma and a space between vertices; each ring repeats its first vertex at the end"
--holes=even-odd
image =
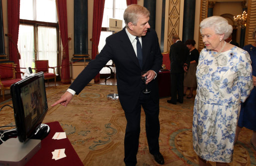
POLYGON ((228 21, 221 16, 210 16, 203 19, 200 22, 200 33, 203 28, 212 28, 216 34, 224 34, 223 39, 226 39, 233 30, 232 25, 229 25, 228 21))

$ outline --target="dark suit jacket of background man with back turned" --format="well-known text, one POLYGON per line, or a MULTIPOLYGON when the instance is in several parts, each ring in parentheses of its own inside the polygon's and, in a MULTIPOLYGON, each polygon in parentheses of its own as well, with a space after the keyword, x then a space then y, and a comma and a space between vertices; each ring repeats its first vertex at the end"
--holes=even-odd
POLYGON ((188 48, 180 40, 170 46, 170 73, 183 73, 184 63, 189 67, 188 53, 188 48))

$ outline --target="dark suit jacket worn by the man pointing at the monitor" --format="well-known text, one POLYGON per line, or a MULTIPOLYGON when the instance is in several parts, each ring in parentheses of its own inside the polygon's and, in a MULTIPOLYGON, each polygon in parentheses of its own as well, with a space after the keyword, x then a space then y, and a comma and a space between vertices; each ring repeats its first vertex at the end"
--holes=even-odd
MULTIPOLYGON (((162 64, 162 55, 156 32, 153 29, 148 29, 146 35, 142 36, 142 54, 142 70, 153 70, 158 73, 162 64)), ((141 80, 142 70, 125 28, 106 38, 103 49, 77 76, 69 88, 76 94, 80 93, 110 59, 116 67, 117 91, 121 106, 124 111, 132 110, 144 88, 144 83, 141 80)), ((158 103, 157 79, 148 83, 147 88, 151 90, 149 94, 151 98, 158 103)))

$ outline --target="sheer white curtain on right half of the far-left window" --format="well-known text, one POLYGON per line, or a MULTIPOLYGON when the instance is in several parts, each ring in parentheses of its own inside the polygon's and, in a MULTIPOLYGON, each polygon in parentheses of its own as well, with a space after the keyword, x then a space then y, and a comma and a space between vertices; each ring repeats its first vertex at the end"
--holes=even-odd
MULTIPOLYGON (((48 59, 49 67, 57 66, 57 34, 56 28, 38 26, 37 34, 37 60, 48 59)), ((53 73, 53 69, 49 68, 49 72, 53 73)), ((57 68, 55 68, 55 73, 57 68)))

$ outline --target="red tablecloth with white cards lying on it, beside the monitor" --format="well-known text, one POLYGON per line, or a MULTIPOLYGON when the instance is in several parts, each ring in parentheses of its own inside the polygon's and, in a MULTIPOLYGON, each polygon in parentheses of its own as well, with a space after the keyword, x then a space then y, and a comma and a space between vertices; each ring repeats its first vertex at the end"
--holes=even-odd
POLYGON ((63 132, 58 122, 46 123, 50 127, 50 133, 41 141, 41 149, 26 163, 25 166, 83 166, 78 155, 74 151, 68 138, 53 140, 56 132, 63 132), (51 152, 55 149, 65 149, 65 158, 54 160, 51 152))

